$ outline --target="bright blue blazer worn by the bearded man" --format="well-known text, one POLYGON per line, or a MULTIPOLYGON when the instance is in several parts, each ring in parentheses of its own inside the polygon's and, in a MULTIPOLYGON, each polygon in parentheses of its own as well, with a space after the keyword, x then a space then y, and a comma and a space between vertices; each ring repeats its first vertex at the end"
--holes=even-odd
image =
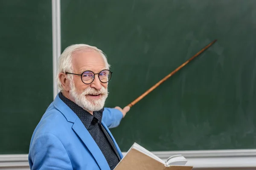
MULTIPOLYGON (((117 109, 105 108, 102 125, 122 153, 108 128, 122 119, 117 109)), ((31 170, 110 170, 108 162, 81 120, 57 95, 42 116, 29 146, 31 170)))

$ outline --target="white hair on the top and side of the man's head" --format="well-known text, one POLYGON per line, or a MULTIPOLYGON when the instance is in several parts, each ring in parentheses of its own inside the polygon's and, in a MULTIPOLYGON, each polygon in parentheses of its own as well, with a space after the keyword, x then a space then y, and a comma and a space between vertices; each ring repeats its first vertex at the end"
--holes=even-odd
MULTIPOLYGON (((87 49, 99 52, 102 55, 102 58, 104 59, 106 69, 110 68, 110 65, 108 64, 107 56, 100 49, 87 44, 70 45, 62 52, 62 54, 58 58, 58 70, 57 70, 56 81, 57 81, 58 88, 60 90, 63 90, 63 88, 58 75, 60 73, 72 72, 73 71, 72 55, 75 52, 87 50, 87 49)), ((68 74, 67 78, 72 80, 72 75, 68 74)))

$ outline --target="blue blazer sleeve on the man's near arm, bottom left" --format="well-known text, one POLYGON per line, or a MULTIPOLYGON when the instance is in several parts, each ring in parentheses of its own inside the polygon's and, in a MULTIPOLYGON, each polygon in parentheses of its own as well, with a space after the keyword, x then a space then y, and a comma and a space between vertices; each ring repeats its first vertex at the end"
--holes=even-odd
POLYGON ((29 153, 31 170, 73 170, 61 141, 52 133, 43 133, 33 141, 29 153))

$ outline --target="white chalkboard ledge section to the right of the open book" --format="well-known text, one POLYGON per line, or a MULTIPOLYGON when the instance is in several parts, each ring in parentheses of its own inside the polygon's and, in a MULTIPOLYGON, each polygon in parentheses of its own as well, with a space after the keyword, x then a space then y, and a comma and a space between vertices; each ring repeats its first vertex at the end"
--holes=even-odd
POLYGON ((164 161, 172 155, 181 154, 187 165, 195 168, 251 168, 256 169, 256 150, 195 150, 153 152, 164 161))

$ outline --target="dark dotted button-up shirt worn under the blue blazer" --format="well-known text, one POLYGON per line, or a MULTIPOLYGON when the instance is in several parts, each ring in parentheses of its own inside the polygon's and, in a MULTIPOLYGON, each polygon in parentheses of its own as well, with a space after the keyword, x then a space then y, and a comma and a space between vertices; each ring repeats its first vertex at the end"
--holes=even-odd
POLYGON ((113 170, 119 163, 120 157, 117 153, 113 140, 101 124, 104 108, 100 111, 94 111, 93 115, 91 115, 79 105, 76 105, 76 103, 72 102, 70 99, 67 99, 61 93, 59 93, 59 97, 79 117, 105 156, 110 169, 113 170))

